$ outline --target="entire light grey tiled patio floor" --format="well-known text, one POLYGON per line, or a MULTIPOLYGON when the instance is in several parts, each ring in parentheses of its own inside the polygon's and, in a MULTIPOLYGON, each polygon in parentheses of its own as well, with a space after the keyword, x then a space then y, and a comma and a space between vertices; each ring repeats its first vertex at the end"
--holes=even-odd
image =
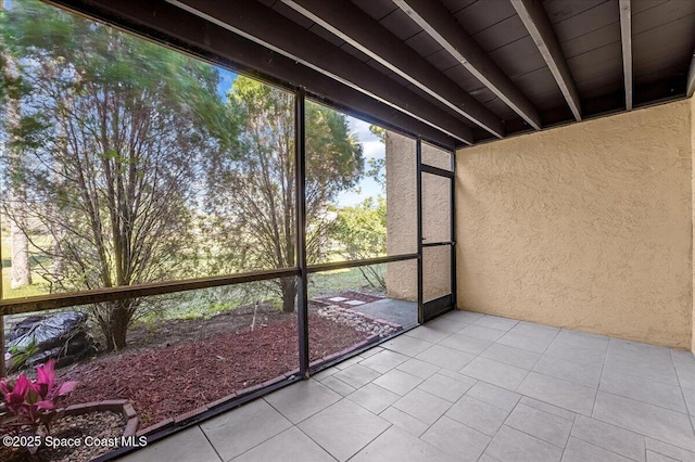
POLYGON ((137 461, 695 461, 688 351, 454 311, 137 461))

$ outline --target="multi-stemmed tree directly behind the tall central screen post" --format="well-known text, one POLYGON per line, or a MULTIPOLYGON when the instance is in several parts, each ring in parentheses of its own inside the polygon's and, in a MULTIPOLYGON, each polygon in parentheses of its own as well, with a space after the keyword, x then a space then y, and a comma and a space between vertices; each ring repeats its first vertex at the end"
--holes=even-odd
MULTIPOLYGON (((296 261, 294 98, 258 81, 238 77, 229 105, 242 120, 240 153, 223 156, 208 176, 207 205, 240 268, 287 268, 296 261)), ((307 260, 315 261, 330 220, 326 213, 340 191, 363 174, 362 146, 350 136, 344 115, 306 104, 307 260)), ((222 245, 219 247, 223 247, 222 245)), ((282 310, 294 310, 294 278, 277 283, 282 310)))

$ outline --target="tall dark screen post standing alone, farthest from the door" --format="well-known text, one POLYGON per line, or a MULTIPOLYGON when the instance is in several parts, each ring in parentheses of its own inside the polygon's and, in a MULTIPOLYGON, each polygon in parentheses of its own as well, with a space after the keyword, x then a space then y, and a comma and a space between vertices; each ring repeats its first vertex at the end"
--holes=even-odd
POLYGON ((306 145, 305 98, 303 87, 294 95, 294 191, 296 193, 296 266, 298 277, 298 331, 300 348, 300 374, 308 378, 308 294, 306 272, 306 145))

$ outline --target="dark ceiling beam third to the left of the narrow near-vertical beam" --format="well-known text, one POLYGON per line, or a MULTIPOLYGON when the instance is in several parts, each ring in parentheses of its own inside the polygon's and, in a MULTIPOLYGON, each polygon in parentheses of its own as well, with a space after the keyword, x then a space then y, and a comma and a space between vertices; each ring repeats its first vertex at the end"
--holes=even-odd
POLYGON ((495 137, 504 137, 504 125, 492 111, 352 2, 346 0, 281 1, 450 110, 495 137))

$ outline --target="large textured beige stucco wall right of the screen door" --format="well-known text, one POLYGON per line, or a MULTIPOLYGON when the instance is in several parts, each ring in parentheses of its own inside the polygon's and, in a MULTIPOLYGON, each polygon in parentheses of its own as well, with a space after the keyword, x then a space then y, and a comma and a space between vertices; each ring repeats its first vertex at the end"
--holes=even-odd
POLYGON ((460 150, 459 308, 690 348, 692 154, 690 101, 460 150))

